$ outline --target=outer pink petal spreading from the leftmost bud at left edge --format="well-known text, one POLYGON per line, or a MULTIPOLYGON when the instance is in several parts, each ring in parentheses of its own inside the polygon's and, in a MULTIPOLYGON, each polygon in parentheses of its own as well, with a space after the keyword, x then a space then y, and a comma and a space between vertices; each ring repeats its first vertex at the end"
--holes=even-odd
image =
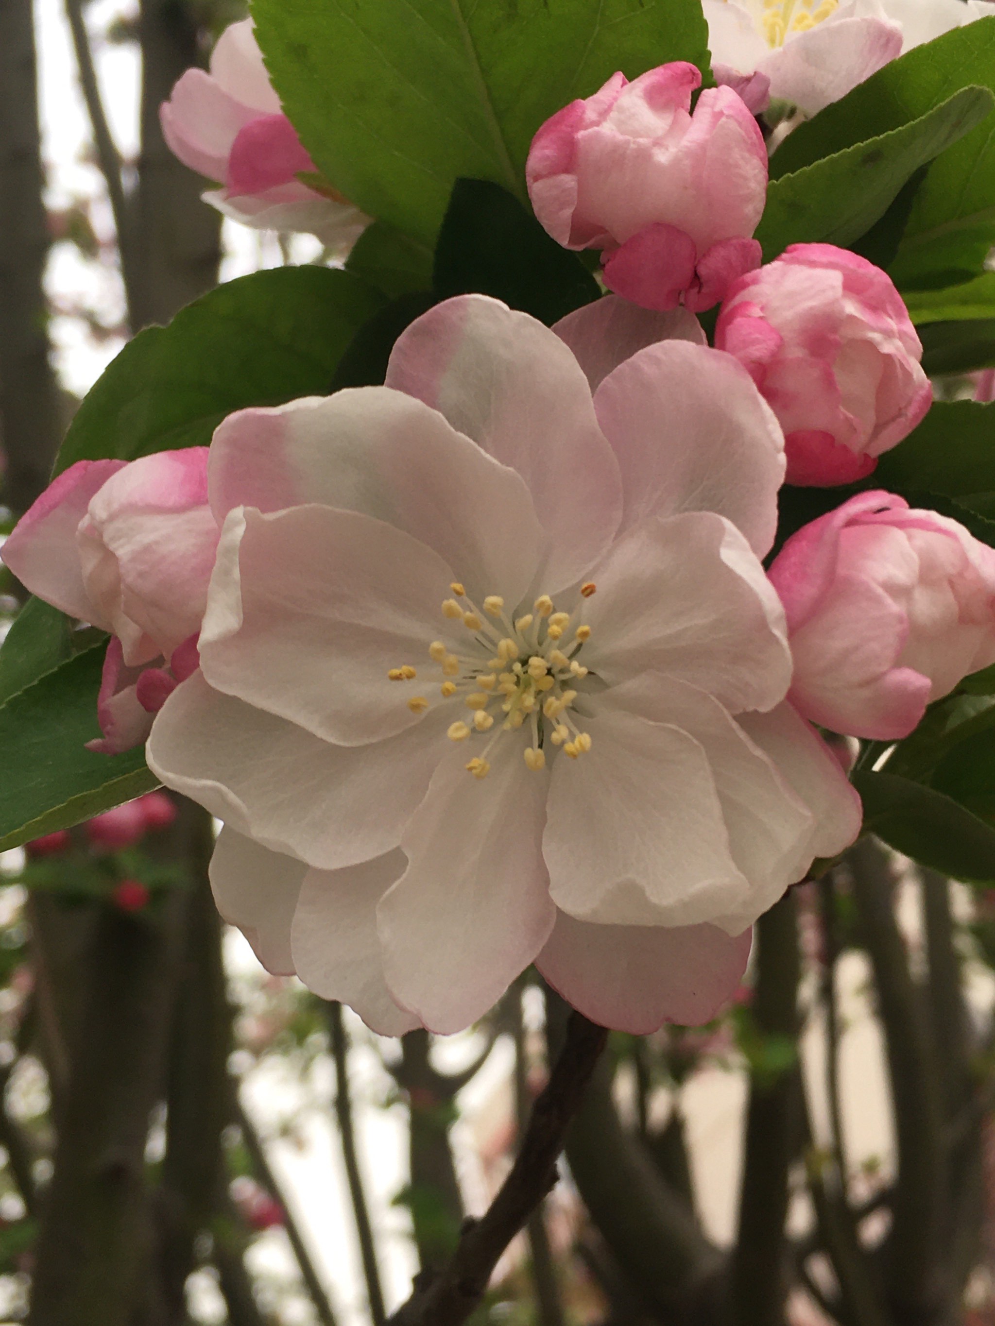
POLYGON ((94 493, 123 460, 77 460, 54 479, 7 538, 0 557, 17 579, 46 603, 70 617, 110 630, 110 622, 94 615, 80 568, 76 532, 94 493))

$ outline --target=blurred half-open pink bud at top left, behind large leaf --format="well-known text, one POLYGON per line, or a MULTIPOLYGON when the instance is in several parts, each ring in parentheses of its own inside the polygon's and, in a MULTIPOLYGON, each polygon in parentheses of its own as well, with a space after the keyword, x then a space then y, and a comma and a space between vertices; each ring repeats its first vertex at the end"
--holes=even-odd
POLYGON ((305 231, 348 249, 369 217, 332 190, 301 180, 317 167, 284 115, 252 20, 218 38, 211 72, 188 69, 159 109, 170 150, 191 170, 224 188, 204 199, 257 229, 305 231))

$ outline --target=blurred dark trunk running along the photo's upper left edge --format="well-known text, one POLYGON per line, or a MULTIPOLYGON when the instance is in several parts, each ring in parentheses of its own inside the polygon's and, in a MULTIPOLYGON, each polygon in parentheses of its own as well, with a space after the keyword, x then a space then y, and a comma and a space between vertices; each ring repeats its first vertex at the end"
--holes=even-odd
POLYGON ((32 0, 0 4, 0 443, 4 501, 25 511, 48 483, 62 434, 49 363, 42 273, 49 235, 32 0))

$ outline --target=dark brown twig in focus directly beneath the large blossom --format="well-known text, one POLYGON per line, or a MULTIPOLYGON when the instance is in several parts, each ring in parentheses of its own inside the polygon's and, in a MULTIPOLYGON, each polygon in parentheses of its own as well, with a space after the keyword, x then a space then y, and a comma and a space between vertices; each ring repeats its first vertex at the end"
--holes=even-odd
POLYGON ((521 1150, 480 1220, 467 1223, 448 1265, 390 1318, 390 1326, 462 1326, 483 1298, 504 1249, 557 1180, 566 1127, 605 1048, 608 1032, 573 1013, 549 1082, 532 1107, 521 1150))

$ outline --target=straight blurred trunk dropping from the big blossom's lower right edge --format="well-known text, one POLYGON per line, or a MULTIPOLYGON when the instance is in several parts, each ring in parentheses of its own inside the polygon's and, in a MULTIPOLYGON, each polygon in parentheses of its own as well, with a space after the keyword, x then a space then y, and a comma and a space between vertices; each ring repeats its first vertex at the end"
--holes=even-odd
MULTIPOLYGON (((800 977, 797 902, 793 892, 756 924, 752 1013, 764 1038, 797 1044, 800 977)), ((788 1172, 800 1143, 797 1062, 779 1073, 755 1071, 747 1106, 739 1235, 730 1268, 736 1326, 783 1326, 787 1297, 788 1172)))

